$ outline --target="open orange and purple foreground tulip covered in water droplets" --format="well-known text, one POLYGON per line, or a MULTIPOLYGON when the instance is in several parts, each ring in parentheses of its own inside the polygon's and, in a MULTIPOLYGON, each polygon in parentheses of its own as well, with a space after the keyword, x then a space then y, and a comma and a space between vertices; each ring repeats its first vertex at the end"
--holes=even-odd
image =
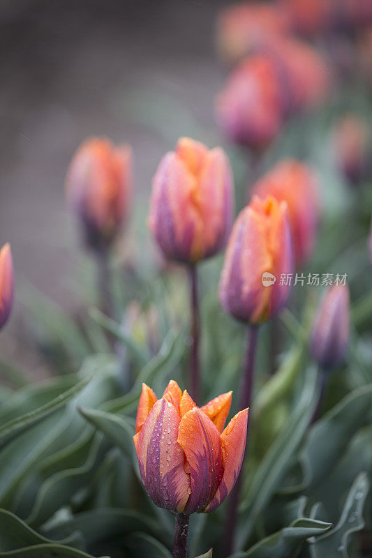
POLYGON ((161 508, 209 512, 229 495, 244 457, 248 409, 224 428, 231 394, 197 407, 177 382, 161 399, 142 384, 135 448, 144 488, 161 508))

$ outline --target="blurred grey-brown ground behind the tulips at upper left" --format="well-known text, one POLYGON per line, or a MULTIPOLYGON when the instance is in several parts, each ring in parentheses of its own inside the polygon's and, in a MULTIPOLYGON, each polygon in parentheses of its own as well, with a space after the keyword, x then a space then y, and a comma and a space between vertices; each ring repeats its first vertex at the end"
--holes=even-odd
POLYGON ((37 286, 65 308, 76 303, 68 277, 81 251, 64 181, 77 146, 90 135, 130 142, 135 201, 145 212, 163 153, 196 122, 214 126, 213 100, 224 77, 214 29, 227 4, 1 2, 0 239, 12 246, 18 288, 0 337, 7 358, 31 364, 36 374, 41 366, 22 335, 22 285, 37 286))

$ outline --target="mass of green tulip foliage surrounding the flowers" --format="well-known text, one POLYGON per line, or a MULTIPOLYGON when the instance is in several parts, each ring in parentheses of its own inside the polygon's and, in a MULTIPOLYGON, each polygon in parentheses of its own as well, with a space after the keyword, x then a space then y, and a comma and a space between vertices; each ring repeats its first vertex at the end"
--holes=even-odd
MULTIPOLYGON (((199 139, 220 143, 179 105, 136 91, 126 110, 172 142, 187 128, 199 139)), ((278 318, 281 349, 274 375, 270 332, 262 326, 234 558, 362 558, 363 551, 371 552, 359 533, 372 531, 372 296, 366 248, 371 183, 352 193, 342 187, 329 156, 329 130, 325 133, 341 109, 328 110, 289 122, 262 158, 262 169, 282 156, 304 154, 318 169, 322 228, 302 272, 348 273, 350 349, 345 363, 329 374, 321 416, 313 423, 318 371, 308 355, 308 338, 319 290, 295 287, 290 310, 278 318)), ((231 146, 228 152, 241 177, 241 205, 246 154, 231 146)), ((112 262, 117 319, 96 308, 86 262, 84 280, 78 278, 74 287, 85 304, 75 315, 35 289, 24 296, 32 339, 51 377, 32 382, 29 371, 0 360, 0 558, 171 556, 174 518, 144 491, 133 434, 142 382, 157 395, 171 377, 188 385, 188 291, 184 270, 154 269, 148 239, 142 241, 144 209, 135 218, 141 225, 133 261, 112 262), (140 315, 135 326, 133 301, 140 315), (155 326, 149 308, 156 313, 155 326)), ((234 408, 246 331, 221 310, 221 266, 221 256, 199 266, 200 403, 233 389, 234 408)), ((213 513, 194 514, 192 557, 212 558, 206 549, 213 548, 213 558, 221 558, 226 513, 223 504, 213 513)))

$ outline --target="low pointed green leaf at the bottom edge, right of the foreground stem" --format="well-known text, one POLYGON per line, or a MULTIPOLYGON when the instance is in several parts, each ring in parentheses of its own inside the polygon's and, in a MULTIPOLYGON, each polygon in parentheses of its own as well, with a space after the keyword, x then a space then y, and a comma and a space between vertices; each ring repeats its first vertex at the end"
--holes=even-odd
MULTIPOLYGON (((237 552, 231 558, 288 558, 299 552, 307 538, 320 536, 332 529, 332 523, 298 518, 289 527, 263 538, 247 552, 237 552)), ((322 555, 324 558, 328 555, 322 555)))

